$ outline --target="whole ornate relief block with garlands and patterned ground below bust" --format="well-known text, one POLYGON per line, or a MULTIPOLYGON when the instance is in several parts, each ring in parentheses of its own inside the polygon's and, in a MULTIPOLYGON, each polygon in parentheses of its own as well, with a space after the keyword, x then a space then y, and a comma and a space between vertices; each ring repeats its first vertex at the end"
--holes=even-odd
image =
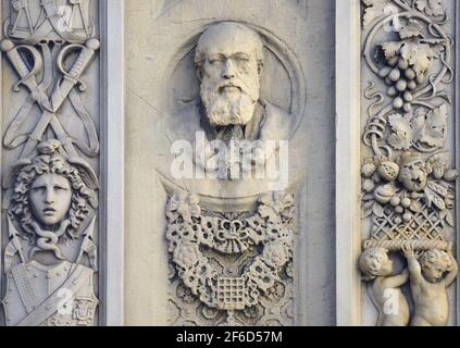
POLYGON ((294 213, 285 192, 261 197, 254 213, 237 214, 203 211, 196 196, 176 191, 166 238, 171 307, 182 318, 172 315, 172 323, 190 316, 201 325, 254 325, 278 313, 279 324, 290 324, 294 213))

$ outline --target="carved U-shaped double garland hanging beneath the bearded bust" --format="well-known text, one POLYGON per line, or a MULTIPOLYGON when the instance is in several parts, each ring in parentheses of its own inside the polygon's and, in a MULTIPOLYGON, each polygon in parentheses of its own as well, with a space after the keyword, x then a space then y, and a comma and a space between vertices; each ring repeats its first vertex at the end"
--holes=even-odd
POLYGON ((176 191, 169 202, 166 237, 178 275, 201 302, 229 318, 257 306, 283 271, 291 276, 294 198, 273 192, 259 202, 258 212, 245 220, 204 214, 198 198, 186 191, 176 191), (263 251, 237 277, 223 276, 201 251, 240 254, 259 247, 263 251))

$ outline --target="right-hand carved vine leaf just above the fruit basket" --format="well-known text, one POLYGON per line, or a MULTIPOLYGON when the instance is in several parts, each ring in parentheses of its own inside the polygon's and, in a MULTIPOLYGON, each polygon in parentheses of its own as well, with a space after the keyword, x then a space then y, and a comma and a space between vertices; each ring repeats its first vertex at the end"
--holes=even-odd
POLYGON ((440 148, 447 139, 447 105, 430 111, 427 114, 419 114, 413 120, 414 141, 428 147, 440 148))

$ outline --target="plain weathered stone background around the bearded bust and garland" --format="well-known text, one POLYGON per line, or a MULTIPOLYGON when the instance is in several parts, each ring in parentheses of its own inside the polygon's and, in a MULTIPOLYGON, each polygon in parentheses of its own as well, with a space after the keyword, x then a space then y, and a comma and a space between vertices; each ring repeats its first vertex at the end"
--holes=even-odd
MULTIPOLYGON (((333 250, 327 246, 334 244, 334 224, 327 219, 309 219, 314 214, 326 216, 333 211, 334 197, 327 184, 327 181, 333 181, 334 174, 331 146, 334 144, 334 105, 327 97, 327 89, 334 83, 331 70, 333 42, 325 40, 326 44, 320 45, 325 33, 333 40, 332 27, 328 26, 333 21, 332 9, 332 1, 178 1, 167 2, 167 5, 161 1, 135 1, 127 7, 127 165, 139 169, 127 173, 126 219, 127 224, 136 226, 133 228, 137 231, 136 235, 128 235, 126 239, 128 323, 166 324, 177 320, 181 322, 181 318, 185 318, 186 323, 197 322, 197 318, 207 318, 208 324, 226 321, 219 310, 201 311, 198 306, 199 293, 194 295, 194 290, 188 290, 187 295, 186 288, 176 285, 172 291, 167 282, 159 284, 158 279, 167 279, 169 274, 164 212, 174 190, 186 189, 198 195, 201 211, 207 211, 201 220, 208 219, 208 212, 235 213, 234 217, 226 217, 233 223, 236 223, 238 213, 257 211, 259 197, 268 191, 268 183, 263 184, 260 179, 198 181, 194 177, 178 181, 171 175, 174 158, 170 151, 175 140, 185 139, 192 144, 196 130, 204 130, 212 140, 212 134, 201 124, 203 113, 196 107, 202 97, 202 84, 197 78, 194 62, 196 45, 207 27, 231 21, 257 33, 263 45, 264 64, 260 71, 259 96, 254 100, 264 103, 258 102, 256 113, 249 112, 249 115, 257 114, 258 109, 271 109, 266 112, 273 114, 273 123, 265 125, 269 130, 265 132, 266 138, 289 141, 286 190, 295 194, 299 213, 296 219, 298 232, 293 245, 294 306, 285 307, 282 311, 291 315, 291 323, 333 324, 334 274, 327 270, 333 268, 333 250), (151 17, 139 17, 139 9, 151 13, 151 17), (304 173, 308 173, 307 179, 304 173), (321 199, 313 200, 313 195, 321 199), (146 256, 149 257, 146 259, 146 256), (152 264, 156 266, 152 268, 152 264), (152 287, 156 288, 154 298, 151 297, 152 287), (174 297, 167 307, 171 293, 174 297), (301 295, 307 293, 312 297, 301 295), (174 299, 177 294, 185 296, 190 303, 198 303, 197 309, 204 316, 195 314, 192 306, 186 306, 188 311, 183 304, 177 307, 177 299, 174 299), (181 308, 185 311, 183 314, 179 314, 181 308)), ((233 44, 226 41, 224 34, 227 29, 209 35, 217 40, 209 45, 208 38, 203 47, 212 47, 219 52, 228 47, 245 51, 245 44, 238 36, 235 36, 233 44), (227 44, 219 46, 219 42, 227 44)), ((228 60, 227 57, 223 59, 228 60)), ((253 129, 253 136, 250 133, 244 136, 254 140, 260 139, 261 135, 263 137, 263 132, 260 132, 263 126, 259 127, 259 132, 257 127, 253 129)), ((235 129, 228 134, 229 137, 237 137, 238 132, 235 129)), ((213 248, 219 246, 214 245, 213 248)), ((170 245, 173 256, 174 250, 175 245, 170 245)), ((182 260, 179 254, 174 259, 182 260)), ((221 262, 224 262, 222 260, 229 260, 228 256, 221 257, 221 262)), ((176 264, 172 263, 172 272, 176 264)), ((251 314, 254 323, 286 324, 281 314, 269 313, 273 309, 270 303, 264 307, 264 315, 260 310, 251 314)), ((236 323, 245 323, 238 315, 235 314, 236 323)))

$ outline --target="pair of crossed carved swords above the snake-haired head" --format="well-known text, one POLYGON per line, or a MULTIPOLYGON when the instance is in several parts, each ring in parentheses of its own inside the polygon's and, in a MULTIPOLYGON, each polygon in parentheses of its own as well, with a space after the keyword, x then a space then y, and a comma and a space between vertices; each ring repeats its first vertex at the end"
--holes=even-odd
MULTIPOLYGON (((79 85, 79 89, 83 91, 86 87, 80 80, 80 76, 84 71, 89 66, 95 52, 99 49, 100 42, 98 39, 88 39, 85 46, 79 44, 65 46, 57 58, 57 67, 62 74, 62 78, 55 85, 51 97, 49 98, 45 91, 45 88, 38 84, 37 76, 40 74, 43 67, 43 60, 38 50, 33 46, 21 45, 15 46, 13 41, 5 39, 1 41, 0 49, 7 54, 9 61, 13 65, 14 70, 21 77, 21 80, 14 86, 14 90, 18 91, 18 87, 24 85, 30 91, 29 98, 32 102, 23 107, 24 112, 20 111, 13 123, 7 130, 4 138, 4 146, 8 148, 16 148, 23 142, 26 142, 21 154, 21 159, 27 158, 35 149, 37 144, 41 141, 41 138, 47 130, 48 126, 54 132, 57 138, 61 141, 64 150, 70 157, 78 157, 78 153, 74 147, 74 139, 72 139, 61 122, 57 116, 57 112, 61 109, 64 100, 69 97, 72 103, 76 107, 77 113, 83 114, 82 119, 87 132, 89 133, 90 150, 88 152, 97 153, 99 151, 99 141, 92 120, 90 120, 87 112, 84 110, 83 103, 80 102, 79 96, 74 87, 79 85), (70 71, 64 67, 64 61, 70 53, 78 50, 79 54, 70 71), (21 52, 24 51, 32 59, 29 69, 26 64, 21 52), (27 136, 20 136, 17 130, 24 121, 24 117, 30 110, 32 105, 37 103, 41 110, 41 116, 35 126, 35 129, 27 136), (79 107, 78 107, 79 105, 79 107), (27 110, 28 109, 28 110, 27 110)), ((28 61, 27 61, 28 62, 28 61)), ((80 146, 78 146, 80 148, 80 146)))

